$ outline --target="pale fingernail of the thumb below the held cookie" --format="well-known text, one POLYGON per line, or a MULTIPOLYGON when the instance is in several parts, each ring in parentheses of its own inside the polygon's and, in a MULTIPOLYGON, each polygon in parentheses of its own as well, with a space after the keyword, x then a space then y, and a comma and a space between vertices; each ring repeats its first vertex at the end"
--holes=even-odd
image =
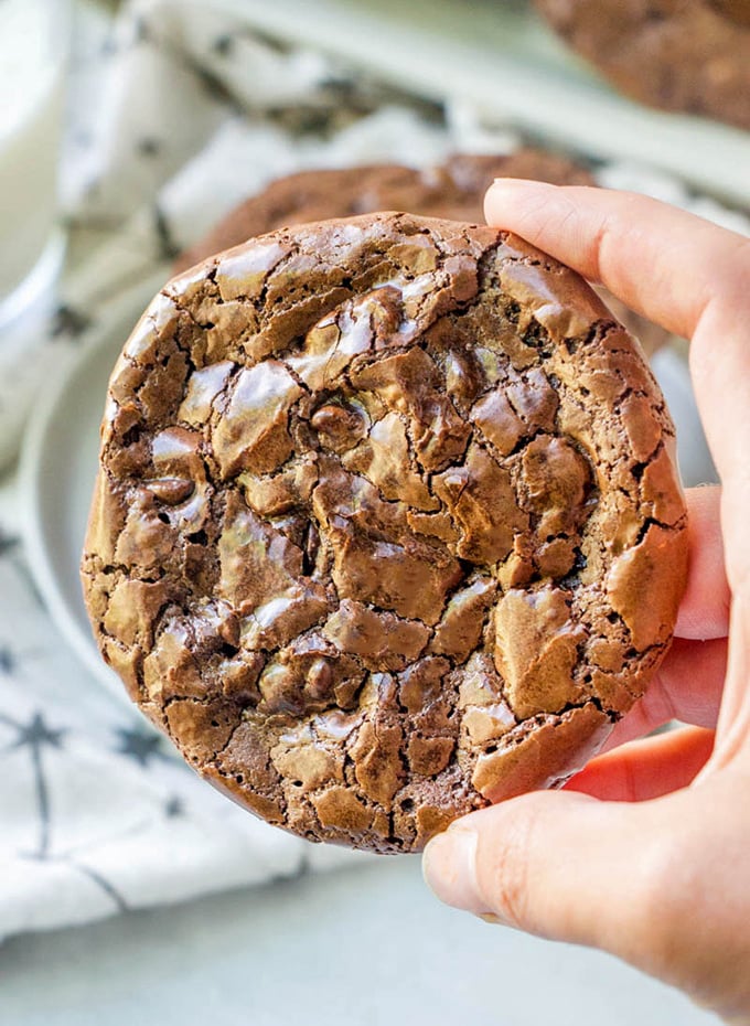
POLYGON ((448 830, 433 837, 425 848, 422 873, 427 886, 453 908, 475 916, 490 911, 476 886, 476 845, 473 830, 448 830))

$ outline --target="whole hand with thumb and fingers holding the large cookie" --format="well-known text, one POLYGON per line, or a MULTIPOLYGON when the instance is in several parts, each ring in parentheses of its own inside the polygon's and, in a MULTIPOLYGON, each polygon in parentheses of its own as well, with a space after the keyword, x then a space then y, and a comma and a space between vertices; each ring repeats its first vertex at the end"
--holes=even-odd
POLYGON ((688 493, 676 640, 609 750, 564 791, 433 838, 449 905, 613 952, 750 1024, 750 239, 643 196, 499 181, 490 224, 692 340, 722 488, 688 493), (632 740, 669 719, 685 726, 632 740))

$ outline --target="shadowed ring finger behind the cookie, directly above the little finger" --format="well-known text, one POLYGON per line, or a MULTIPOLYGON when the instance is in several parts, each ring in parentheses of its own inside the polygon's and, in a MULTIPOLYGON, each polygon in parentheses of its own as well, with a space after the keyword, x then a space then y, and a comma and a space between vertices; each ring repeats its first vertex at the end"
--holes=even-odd
POLYGON ((675 639, 646 693, 615 725, 604 750, 643 737, 673 719, 716 727, 727 672, 727 641, 675 639))

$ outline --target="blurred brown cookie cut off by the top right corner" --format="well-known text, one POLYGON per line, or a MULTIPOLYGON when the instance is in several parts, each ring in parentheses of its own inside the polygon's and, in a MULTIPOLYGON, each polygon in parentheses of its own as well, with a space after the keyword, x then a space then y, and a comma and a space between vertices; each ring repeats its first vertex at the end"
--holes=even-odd
POLYGON ((535 2, 623 93, 750 128, 748 0, 535 2))

